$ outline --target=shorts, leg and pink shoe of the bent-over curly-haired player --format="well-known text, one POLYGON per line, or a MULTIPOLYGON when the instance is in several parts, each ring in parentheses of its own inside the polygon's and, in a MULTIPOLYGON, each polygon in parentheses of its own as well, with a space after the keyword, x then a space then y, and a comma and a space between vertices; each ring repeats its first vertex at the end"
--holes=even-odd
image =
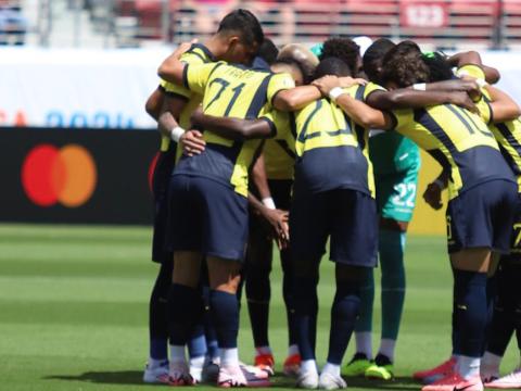
POLYGON ((480 366, 488 318, 487 276, 497 260, 492 250, 509 251, 516 205, 517 186, 506 181, 476 186, 448 204, 448 250, 455 268, 461 354, 455 374, 427 386, 425 391, 483 389, 480 366))

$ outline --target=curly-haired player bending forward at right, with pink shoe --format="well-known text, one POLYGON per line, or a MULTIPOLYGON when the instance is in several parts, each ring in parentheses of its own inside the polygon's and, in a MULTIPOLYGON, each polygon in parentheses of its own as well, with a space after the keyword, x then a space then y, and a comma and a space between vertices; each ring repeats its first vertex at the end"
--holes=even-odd
MULTIPOLYGON (((414 42, 391 49, 384 63, 383 80, 389 88, 429 80, 429 67, 414 42)), ((342 102, 344 110, 353 109, 354 101, 348 97, 342 102)), ((393 125, 378 113, 374 115, 383 116, 381 128, 393 125)), ((397 131, 425 149, 449 173, 447 242, 455 268, 461 356, 455 374, 423 390, 481 391, 479 367, 487 317, 487 272, 493 253, 509 251, 517 182, 492 133, 475 114, 443 104, 394 111, 392 119, 397 131)))

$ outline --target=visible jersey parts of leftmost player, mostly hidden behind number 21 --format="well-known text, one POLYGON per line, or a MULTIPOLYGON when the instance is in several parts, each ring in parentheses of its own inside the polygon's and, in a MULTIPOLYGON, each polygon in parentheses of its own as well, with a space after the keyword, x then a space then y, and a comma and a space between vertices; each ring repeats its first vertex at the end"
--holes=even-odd
MULTIPOLYGON (((193 43, 191 48, 181 55, 181 61, 187 64, 204 64, 214 62, 215 58, 212 52, 201 43, 193 43)), ((187 101, 179 115, 179 126, 185 129, 190 128, 190 116, 193 111, 199 108, 203 100, 203 96, 194 93, 189 89, 178 86, 166 80, 160 80, 160 88, 169 97, 180 98, 187 101)), ((165 152, 170 146, 170 138, 163 136, 161 139, 161 151, 165 152)))

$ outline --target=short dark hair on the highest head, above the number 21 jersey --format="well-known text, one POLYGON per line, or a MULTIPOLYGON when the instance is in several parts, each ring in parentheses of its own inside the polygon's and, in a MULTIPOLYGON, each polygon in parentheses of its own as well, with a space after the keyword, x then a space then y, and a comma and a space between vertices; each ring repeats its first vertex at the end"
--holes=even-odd
POLYGON ((217 33, 234 31, 241 36, 244 45, 262 45, 264 33, 260 23, 253 13, 247 10, 239 9, 230 12, 219 23, 217 33))

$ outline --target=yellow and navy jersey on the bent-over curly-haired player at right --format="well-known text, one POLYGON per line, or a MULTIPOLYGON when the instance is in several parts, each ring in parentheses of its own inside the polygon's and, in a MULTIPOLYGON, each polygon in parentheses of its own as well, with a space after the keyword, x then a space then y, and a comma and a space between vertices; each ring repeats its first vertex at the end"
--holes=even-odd
POLYGON ((450 200, 488 180, 514 180, 494 136, 479 115, 454 104, 396 110, 393 115, 395 129, 450 173, 450 200))

